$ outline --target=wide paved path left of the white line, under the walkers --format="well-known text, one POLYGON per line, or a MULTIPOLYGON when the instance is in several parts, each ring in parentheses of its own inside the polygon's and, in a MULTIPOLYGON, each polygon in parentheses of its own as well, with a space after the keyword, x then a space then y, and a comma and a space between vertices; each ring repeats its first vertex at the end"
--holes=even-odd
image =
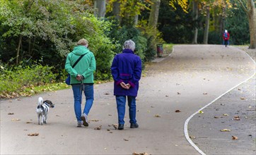
POLYGON ((112 82, 95 85, 88 128, 76 128, 71 89, 1 101, 1 154, 199 154, 185 138, 185 120, 253 73, 250 58, 233 47, 175 46, 163 61, 146 66, 137 97, 139 128, 129 128, 126 113, 121 131, 112 126, 112 82), (47 125, 37 125, 40 96, 55 103, 47 125))

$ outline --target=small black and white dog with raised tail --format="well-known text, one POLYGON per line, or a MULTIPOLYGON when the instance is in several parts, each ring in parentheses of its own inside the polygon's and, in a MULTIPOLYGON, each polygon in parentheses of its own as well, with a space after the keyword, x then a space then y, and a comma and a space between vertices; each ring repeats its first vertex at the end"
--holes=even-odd
POLYGON ((50 100, 43 100, 42 97, 38 98, 38 106, 37 106, 37 118, 38 124, 42 125, 43 123, 46 124, 47 122, 47 113, 49 112, 49 108, 54 108, 54 104, 50 100), (41 123, 40 123, 41 117, 41 123))

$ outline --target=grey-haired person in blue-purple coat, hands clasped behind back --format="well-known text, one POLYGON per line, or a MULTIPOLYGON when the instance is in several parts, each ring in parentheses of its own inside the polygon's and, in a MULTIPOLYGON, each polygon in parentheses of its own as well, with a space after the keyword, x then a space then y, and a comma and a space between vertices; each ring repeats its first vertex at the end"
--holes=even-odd
POLYGON ((136 96, 141 79, 141 58, 134 54, 135 43, 124 42, 123 51, 112 61, 111 72, 114 79, 114 95, 117 101, 118 130, 124 129, 126 98, 129 106, 130 128, 139 128, 136 123, 136 96))

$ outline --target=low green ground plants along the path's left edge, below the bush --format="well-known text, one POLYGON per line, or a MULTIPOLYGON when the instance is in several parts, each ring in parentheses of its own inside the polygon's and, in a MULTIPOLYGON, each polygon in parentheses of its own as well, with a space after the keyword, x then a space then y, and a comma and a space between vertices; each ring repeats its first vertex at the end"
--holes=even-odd
POLYGON ((20 65, 8 68, 0 65, 0 93, 23 92, 23 89, 27 87, 52 83, 57 77, 57 74, 52 73, 52 68, 40 64, 31 67, 20 65))

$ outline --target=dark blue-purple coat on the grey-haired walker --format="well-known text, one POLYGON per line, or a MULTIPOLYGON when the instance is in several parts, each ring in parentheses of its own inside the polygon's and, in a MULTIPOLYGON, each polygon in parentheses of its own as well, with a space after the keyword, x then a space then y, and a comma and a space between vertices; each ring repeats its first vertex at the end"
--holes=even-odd
POLYGON ((112 77, 114 82, 114 95, 136 97, 141 79, 141 58, 130 49, 124 49, 122 54, 117 54, 112 61, 112 77), (131 87, 124 89, 120 83, 129 83, 131 87))

